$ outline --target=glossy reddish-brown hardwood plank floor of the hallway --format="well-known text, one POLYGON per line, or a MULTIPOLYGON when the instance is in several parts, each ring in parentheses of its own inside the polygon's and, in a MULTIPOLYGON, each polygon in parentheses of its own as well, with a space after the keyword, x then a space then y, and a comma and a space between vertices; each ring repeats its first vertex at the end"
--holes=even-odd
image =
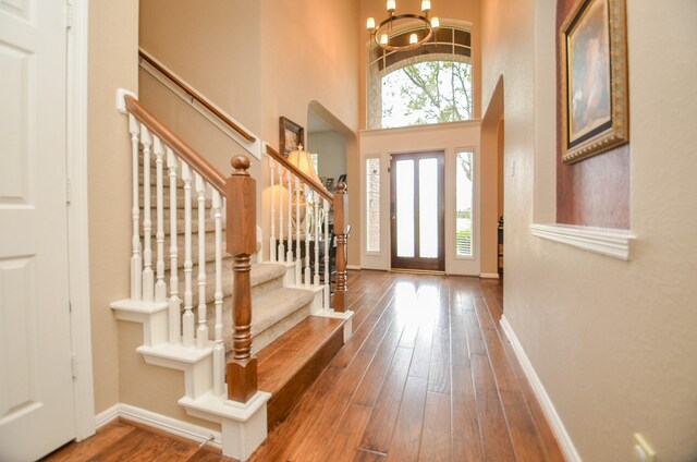
MULTIPOLYGON (((348 288, 353 338, 253 461, 564 460, 498 323, 498 281, 363 270, 348 288)), ((150 460, 152 445, 134 438, 91 460, 150 460)), ((172 451, 167 460, 199 460, 172 451)))

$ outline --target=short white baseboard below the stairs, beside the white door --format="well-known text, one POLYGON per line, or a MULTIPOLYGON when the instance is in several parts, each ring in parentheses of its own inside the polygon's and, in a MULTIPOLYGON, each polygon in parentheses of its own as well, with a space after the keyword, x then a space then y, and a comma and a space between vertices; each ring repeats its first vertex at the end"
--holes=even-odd
POLYGON ((179 421, 176 418, 168 417, 167 415, 157 414, 125 403, 117 403, 108 410, 97 414, 95 417, 97 429, 119 417, 147 425, 172 435, 181 436, 198 443, 209 441, 209 445, 222 448, 222 437, 218 430, 211 430, 210 428, 189 424, 187 422, 179 421), (211 436, 212 440, 210 440, 211 436))

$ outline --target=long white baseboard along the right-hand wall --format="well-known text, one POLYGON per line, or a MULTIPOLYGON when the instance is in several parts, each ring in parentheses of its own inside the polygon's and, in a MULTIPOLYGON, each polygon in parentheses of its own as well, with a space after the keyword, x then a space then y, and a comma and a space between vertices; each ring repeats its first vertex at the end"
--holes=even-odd
POLYGON ((545 411, 547 420, 552 425, 552 430, 557 435, 557 439, 559 439, 559 442, 562 446, 562 451, 564 452, 566 460, 570 462, 582 462, 580 455, 578 455, 578 451, 574 446, 574 441, 571 439, 571 436, 568 436, 566 427, 564 427, 564 423, 557 413, 554 404, 552 404, 552 400, 549 398, 549 394, 547 394, 545 386, 537 376, 535 368, 533 368, 530 360, 528 360, 527 354, 525 354, 525 350, 523 349, 523 345, 521 344, 517 336, 513 331, 513 328, 509 324, 505 315, 501 316, 501 327, 503 327, 503 331, 511 341, 511 345, 513 346, 515 356, 521 363, 521 366, 523 367, 525 376, 533 387, 533 391, 535 392, 537 400, 542 405, 542 411, 545 411))

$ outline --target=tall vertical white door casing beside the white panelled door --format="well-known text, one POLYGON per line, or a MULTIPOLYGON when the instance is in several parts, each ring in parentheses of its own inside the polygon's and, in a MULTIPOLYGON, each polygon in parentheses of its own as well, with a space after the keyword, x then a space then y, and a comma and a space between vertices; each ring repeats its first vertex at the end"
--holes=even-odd
POLYGON ((68 29, 68 245, 70 265, 71 340, 74 357, 75 437, 78 441, 95 434, 95 388, 91 357, 89 300, 89 214, 87 174, 87 0, 73 0, 68 29))

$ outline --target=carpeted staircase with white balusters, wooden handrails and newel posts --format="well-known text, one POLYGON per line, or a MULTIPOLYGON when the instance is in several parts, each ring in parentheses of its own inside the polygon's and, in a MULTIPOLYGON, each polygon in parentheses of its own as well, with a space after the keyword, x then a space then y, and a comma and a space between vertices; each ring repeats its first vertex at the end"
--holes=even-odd
MULTIPOLYGON (((278 204, 278 242, 271 229, 272 262, 262 262, 249 160, 234 158, 225 178, 134 97, 122 97, 133 154, 132 287, 130 299, 111 307, 117 319, 143 325, 136 351, 147 364, 184 373, 178 403, 219 424, 223 454, 246 460, 351 337, 341 233, 345 187, 334 198, 317 191, 317 182, 267 147, 271 179, 274 171, 279 178, 270 187, 285 186, 289 194, 278 204), (334 207, 334 307, 328 281, 320 283, 317 253, 314 278, 310 271, 307 250, 313 235, 316 248, 322 243, 320 226, 305 230, 307 258, 283 250, 282 214, 291 215, 293 187, 296 198, 301 189, 316 191, 315 214, 320 202, 326 211, 334 207)), ((295 239, 301 242, 299 232, 295 239)))

